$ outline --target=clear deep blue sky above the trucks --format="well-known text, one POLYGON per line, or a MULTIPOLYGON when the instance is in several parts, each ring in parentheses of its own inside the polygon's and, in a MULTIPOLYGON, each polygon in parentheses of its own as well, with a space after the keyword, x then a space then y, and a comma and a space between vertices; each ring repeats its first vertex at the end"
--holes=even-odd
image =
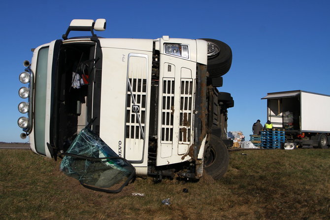
MULTIPOLYGON (((266 120, 268 92, 305 90, 330 95, 329 0, 36 0, 1 3, 0 141, 19 138, 18 75, 31 48, 60 39, 72 19, 107 20, 102 37, 215 38, 229 44, 229 131, 252 134, 266 120)), ((322 104, 320 104, 322 108, 322 104)))

